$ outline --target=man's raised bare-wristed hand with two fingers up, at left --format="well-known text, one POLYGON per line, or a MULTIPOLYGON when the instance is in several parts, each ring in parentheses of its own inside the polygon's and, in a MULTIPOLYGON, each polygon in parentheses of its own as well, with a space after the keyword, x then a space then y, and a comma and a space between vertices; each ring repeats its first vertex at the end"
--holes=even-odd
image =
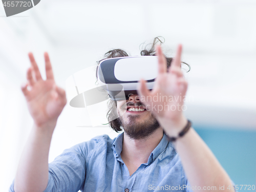
POLYGON ((31 67, 27 71, 27 83, 22 86, 29 112, 36 126, 56 123, 67 103, 65 90, 56 86, 48 53, 45 53, 46 80, 43 80, 32 53, 31 67))

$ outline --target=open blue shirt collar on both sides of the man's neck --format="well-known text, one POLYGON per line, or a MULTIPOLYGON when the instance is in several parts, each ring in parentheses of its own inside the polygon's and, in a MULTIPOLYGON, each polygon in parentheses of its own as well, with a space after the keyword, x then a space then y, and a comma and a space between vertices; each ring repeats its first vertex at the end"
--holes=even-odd
MULTIPOLYGON (((123 148, 123 134, 124 133, 121 133, 120 135, 118 135, 117 138, 115 139, 115 141, 113 142, 113 147, 114 147, 114 152, 113 153, 114 153, 114 157, 115 158, 118 158, 120 156, 121 152, 122 152, 122 148, 123 148)), ((148 157, 147 164, 150 164, 153 161, 155 161, 156 158, 162 152, 164 152, 165 148, 167 147, 167 144, 168 144, 167 136, 164 133, 161 141, 156 146, 156 148, 153 150, 153 152, 151 153, 150 157, 148 157)))

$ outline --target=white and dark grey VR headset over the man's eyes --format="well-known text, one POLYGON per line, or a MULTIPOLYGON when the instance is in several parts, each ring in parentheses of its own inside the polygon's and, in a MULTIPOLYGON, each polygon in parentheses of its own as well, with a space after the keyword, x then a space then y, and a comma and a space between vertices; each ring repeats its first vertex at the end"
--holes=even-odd
POLYGON ((104 59, 96 69, 99 85, 108 91, 109 97, 114 101, 129 99, 132 94, 137 94, 141 78, 146 80, 147 88, 152 90, 157 74, 157 56, 104 59))

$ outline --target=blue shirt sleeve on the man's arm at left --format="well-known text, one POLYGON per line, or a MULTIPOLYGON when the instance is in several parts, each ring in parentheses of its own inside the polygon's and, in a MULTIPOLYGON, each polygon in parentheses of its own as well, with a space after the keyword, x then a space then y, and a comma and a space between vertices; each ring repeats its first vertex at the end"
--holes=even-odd
MULTIPOLYGON (((86 165, 90 153, 99 146, 112 141, 108 135, 97 136, 90 141, 76 144, 64 150, 49 163, 48 184, 44 192, 77 192, 83 190, 86 179, 86 165)), ((14 192, 14 180, 9 192, 14 192)))

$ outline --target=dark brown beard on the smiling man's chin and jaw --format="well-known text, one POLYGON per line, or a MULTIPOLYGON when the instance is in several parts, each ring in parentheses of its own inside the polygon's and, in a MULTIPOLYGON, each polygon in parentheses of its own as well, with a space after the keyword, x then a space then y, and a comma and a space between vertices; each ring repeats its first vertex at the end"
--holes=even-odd
MULTIPOLYGON (((132 103, 130 103, 129 106, 132 106, 131 104, 132 103)), ((140 106, 143 104, 139 101, 134 105, 140 106)), ((119 124, 123 127, 125 134, 131 139, 146 139, 160 127, 160 124, 152 113, 143 121, 138 121, 140 116, 141 115, 128 115, 126 120, 123 116, 119 116, 117 119, 119 124)))

